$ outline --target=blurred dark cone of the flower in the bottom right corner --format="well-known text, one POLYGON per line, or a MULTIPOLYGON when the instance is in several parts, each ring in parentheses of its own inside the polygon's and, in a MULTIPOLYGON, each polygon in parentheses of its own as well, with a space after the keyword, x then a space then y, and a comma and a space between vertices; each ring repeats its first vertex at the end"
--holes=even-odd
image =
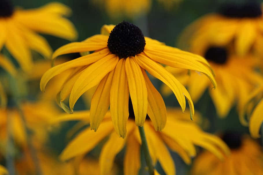
POLYGON ((240 148, 242 145, 242 135, 238 132, 225 132, 222 139, 231 149, 240 148))

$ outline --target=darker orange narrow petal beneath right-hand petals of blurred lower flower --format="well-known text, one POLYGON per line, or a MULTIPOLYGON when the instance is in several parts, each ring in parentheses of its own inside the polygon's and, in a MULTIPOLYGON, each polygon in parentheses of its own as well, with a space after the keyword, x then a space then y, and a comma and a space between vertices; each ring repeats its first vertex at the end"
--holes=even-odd
POLYGON ((189 157, 189 155, 186 153, 186 151, 177 143, 175 142, 172 138, 162 134, 162 139, 164 140, 164 142, 167 144, 167 146, 173 150, 174 152, 176 152, 183 160, 186 164, 190 164, 191 163, 191 158, 189 157))

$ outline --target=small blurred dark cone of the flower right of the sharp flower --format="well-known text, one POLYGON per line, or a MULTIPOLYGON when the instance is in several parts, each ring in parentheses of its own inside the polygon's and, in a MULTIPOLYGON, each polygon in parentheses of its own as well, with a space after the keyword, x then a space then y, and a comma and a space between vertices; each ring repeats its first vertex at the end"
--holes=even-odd
POLYGON ((205 59, 217 64, 224 64, 227 61, 227 50, 221 47, 210 47, 205 52, 205 59))

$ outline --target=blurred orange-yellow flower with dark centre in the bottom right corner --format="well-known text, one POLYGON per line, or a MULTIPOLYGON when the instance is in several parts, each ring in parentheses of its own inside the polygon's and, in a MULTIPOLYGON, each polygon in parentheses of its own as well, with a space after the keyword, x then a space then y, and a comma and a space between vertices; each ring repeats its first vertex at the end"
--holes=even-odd
POLYGON ((263 154, 260 145, 237 133, 227 133, 223 140, 231 148, 231 154, 224 161, 212 153, 204 151, 193 163, 191 175, 221 175, 221 174, 263 174, 263 154))

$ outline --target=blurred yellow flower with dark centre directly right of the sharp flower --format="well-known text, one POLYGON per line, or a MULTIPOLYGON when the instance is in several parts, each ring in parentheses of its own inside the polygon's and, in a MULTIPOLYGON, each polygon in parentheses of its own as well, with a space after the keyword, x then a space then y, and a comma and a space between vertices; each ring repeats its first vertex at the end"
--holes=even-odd
MULTIPOLYGON (((214 70, 216 89, 213 89, 209 79, 202 73, 191 71, 190 74, 184 69, 167 67, 166 69, 179 79, 184 85, 188 86, 189 93, 194 102, 198 101, 206 89, 209 90, 212 101, 214 102, 218 116, 225 117, 229 110, 237 102, 238 111, 242 111, 250 92, 263 83, 260 74, 254 71, 260 59, 247 55, 244 57, 229 53, 223 47, 211 46, 206 51, 200 50, 214 70)), ((166 95, 171 91, 162 86, 162 92, 166 95)), ((242 124, 247 122, 240 118, 242 124)))

